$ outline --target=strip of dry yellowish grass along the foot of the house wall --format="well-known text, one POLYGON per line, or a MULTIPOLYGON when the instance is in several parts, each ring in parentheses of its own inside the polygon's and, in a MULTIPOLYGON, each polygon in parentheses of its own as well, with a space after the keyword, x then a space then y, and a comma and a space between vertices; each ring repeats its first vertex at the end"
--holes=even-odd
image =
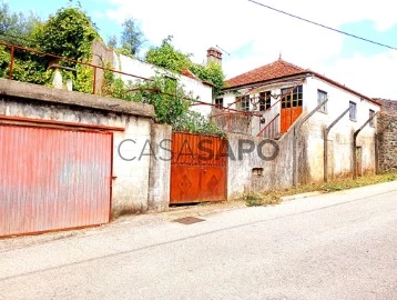
POLYGON ((264 192, 248 192, 243 196, 243 200, 247 207, 258 207, 258 206, 269 206, 277 204, 282 202, 282 197, 284 196, 293 196, 297 193, 304 192, 334 192, 348 190, 381 182, 388 182, 397 180, 397 172, 386 173, 386 174, 374 174, 374 176, 364 176, 356 180, 353 179, 340 179, 335 180, 333 182, 327 183, 313 183, 299 186, 291 189, 282 189, 282 190, 269 190, 264 192))

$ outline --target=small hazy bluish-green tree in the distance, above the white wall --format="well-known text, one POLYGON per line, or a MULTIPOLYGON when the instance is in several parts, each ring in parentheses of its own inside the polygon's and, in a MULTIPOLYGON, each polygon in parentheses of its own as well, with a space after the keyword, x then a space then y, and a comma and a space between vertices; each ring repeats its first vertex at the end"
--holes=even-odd
POLYGON ((144 42, 144 36, 136 24, 136 20, 130 18, 123 23, 123 32, 121 34, 121 49, 125 54, 136 56, 144 42))

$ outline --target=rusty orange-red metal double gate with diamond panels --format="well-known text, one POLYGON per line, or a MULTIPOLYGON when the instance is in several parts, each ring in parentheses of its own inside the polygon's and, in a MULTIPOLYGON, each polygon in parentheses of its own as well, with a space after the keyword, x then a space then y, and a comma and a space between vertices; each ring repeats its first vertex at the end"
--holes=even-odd
POLYGON ((225 139, 174 132, 170 203, 226 200, 226 154, 225 139))

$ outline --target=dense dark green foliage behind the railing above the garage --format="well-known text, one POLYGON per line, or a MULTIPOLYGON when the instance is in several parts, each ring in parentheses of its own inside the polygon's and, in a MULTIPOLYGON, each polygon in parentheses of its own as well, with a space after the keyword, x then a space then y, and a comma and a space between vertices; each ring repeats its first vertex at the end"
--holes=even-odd
MULTIPOLYGON (((12 13, 7 3, 0 8, 0 34, 3 41, 33 48, 51 54, 73 60, 90 61, 94 39, 101 40, 91 19, 80 8, 62 8, 43 22, 34 14, 12 13)), ((84 66, 32 52, 16 50, 12 79, 37 84, 50 84, 53 70, 50 62, 74 68, 77 71, 62 71, 63 78, 71 78, 74 89, 82 92, 92 91, 92 70, 84 66)), ((9 73, 10 53, 0 47, 0 76, 9 73)))

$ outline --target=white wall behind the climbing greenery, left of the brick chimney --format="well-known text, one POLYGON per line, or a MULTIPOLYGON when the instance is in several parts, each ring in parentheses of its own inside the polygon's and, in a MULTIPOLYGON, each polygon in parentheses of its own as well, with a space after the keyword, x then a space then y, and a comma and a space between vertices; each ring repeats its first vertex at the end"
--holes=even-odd
MULTIPOLYGON (((156 73, 167 73, 167 71, 165 71, 164 69, 123 54, 114 53, 114 61, 115 66, 113 66, 113 68, 115 70, 143 78, 151 78, 156 73)), ((210 84, 203 83, 201 80, 196 80, 181 74, 173 76, 179 80, 179 83, 183 87, 186 93, 191 93, 193 99, 212 104, 212 87, 210 84)), ((121 74, 120 77, 124 82, 131 81, 132 83, 136 83, 139 81, 142 81, 141 79, 136 79, 125 74, 121 74)), ((211 113, 211 106, 192 106, 191 110, 197 111, 203 116, 208 117, 211 113)))

